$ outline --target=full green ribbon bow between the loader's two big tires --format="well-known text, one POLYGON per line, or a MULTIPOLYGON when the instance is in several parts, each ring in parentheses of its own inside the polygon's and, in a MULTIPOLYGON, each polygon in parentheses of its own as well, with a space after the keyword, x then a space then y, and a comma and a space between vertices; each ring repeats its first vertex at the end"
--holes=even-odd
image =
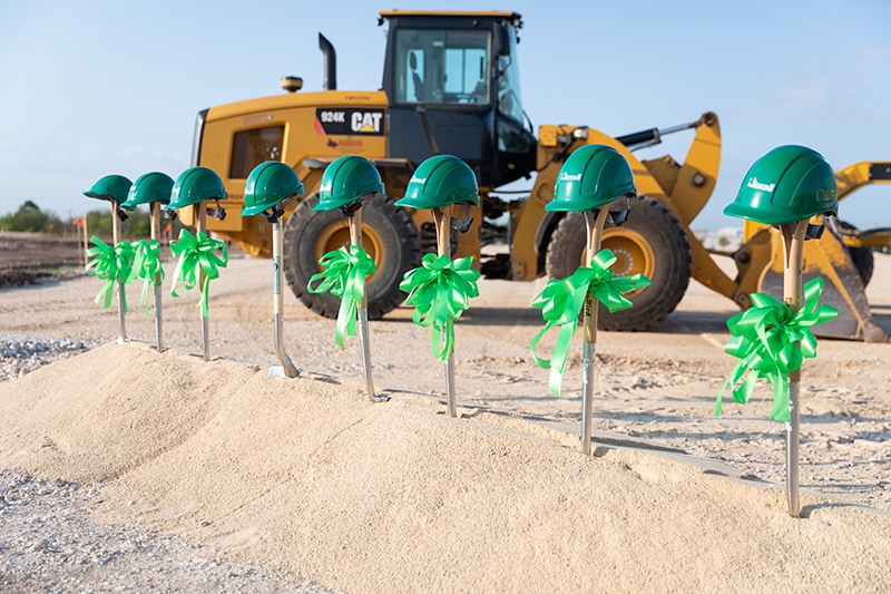
POLYGON ((480 273, 470 267, 472 263, 472 256, 451 261, 446 255, 427 254, 421 259, 421 267, 407 272, 399 283, 409 293, 405 303, 415 305, 414 323, 433 327, 433 354, 441 361, 454 351, 454 320, 470 306, 470 299, 480 294, 477 288, 480 273), (443 331, 446 343, 441 345, 443 331))

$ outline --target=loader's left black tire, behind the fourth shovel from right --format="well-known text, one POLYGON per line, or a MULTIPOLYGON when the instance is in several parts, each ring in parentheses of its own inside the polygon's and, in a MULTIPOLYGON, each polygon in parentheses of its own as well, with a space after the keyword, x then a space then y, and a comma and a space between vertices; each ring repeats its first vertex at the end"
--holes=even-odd
MULTIPOLYGON (((395 206, 392 196, 376 196, 362 206, 362 225, 370 226, 380 237, 383 260, 378 274, 365 284, 369 318, 382 318, 408 296, 399 290, 402 276, 421 265, 421 240, 418 227, 405 208, 395 206)), ((310 279, 319 272, 316 242, 330 225, 343 221, 340 210, 314 212, 319 195, 303 201, 287 220, 284 230, 285 279, 291 290, 304 305, 325 318, 336 318, 340 298, 330 292, 311 293, 306 290, 310 279)), ((349 241, 349 240, 347 240, 349 241)), ((366 249, 368 237, 364 238, 366 249)), ((336 249, 339 246, 332 246, 336 249)))

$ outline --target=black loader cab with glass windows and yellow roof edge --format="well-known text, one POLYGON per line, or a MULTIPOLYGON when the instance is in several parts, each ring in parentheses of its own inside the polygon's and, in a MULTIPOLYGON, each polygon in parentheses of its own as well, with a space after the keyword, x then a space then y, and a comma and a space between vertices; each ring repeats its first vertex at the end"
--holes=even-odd
POLYGON ((389 23, 383 90, 388 156, 418 167, 454 155, 481 187, 535 171, 536 138, 526 128, 515 12, 381 12, 389 23))

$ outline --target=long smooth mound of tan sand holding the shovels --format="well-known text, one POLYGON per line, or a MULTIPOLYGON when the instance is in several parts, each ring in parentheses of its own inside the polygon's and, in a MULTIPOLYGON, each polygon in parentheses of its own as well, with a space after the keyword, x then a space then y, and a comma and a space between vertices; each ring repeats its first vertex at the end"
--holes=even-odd
POLYGON ((350 592, 890 587, 885 515, 392 396, 108 344, 0 384, 0 465, 350 592))

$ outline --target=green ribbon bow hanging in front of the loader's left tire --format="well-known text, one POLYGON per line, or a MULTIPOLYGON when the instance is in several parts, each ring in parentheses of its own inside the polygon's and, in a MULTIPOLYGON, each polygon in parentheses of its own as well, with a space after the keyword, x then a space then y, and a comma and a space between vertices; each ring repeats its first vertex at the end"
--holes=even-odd
POLYGON ((365 294, 365 276, 376 273, 378 267, 371 256, 358 245, 326 253, 319 265, 325 271, 314 274, 306 289, 311 293, 331 291, 332 295, 341 298, 334 340, 343 348, 344 333, 347 339, 355 335, 356 308, 365 294), (313 283, 320 279, 322 282, 313 289, 313 283))

